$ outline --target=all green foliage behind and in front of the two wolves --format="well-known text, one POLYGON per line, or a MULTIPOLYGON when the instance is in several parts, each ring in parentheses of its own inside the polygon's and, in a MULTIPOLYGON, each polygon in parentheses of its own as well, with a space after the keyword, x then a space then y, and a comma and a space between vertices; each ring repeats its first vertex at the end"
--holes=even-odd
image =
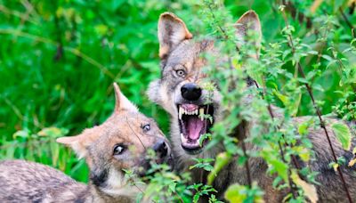
MULTIPOLYGON (((344 121, 356 118, 356 39, 350 28, 356 25, 356 16, 347 13, 351 5, 346 0, 325 0, 318 6, 312 0, 290 2, 296 12, 263 0, 0 0, 0 158, 44 163, 86 182, 85 161, 78 161, 55 138, 79 134, 108 118, 114 106, 113 82, 168 134, 166 113, 148 101, 145 91, 160 73, 158 16, 170 11, 197 37, 214 38, 221 54, 231 57, 214 64, 214 56, 206 54, 211 78, 202 84, 208 91, 219 88, 225 110, 214 132, 204 136, 210 140, 206 150, 222 142, 226 151, 215 159, 197 158, 190 167, 210 172, 207 185, 190 184, 190 175, 152 165, 150 172, 158 173, 150 176, 146 193, 138 199, 197 202, 208 197, 217 202, 211 185, 223 166, 230 161, 244 166, 248 158, 258 157, 267 162, 277 190, 296 188, 286 200, 314 200, 309 183, 316 183, 316 174, 308 167, 293 168, 293 156, 305 162, 314 159, 307 134, 309 128, 320 127, 316 108, 344 121), (255 52, 253 44, 236 53, 233 25, 248 9, 254 9, 262 23, 259 61, 247 57, 255 52), (247 75, 259 88, 247 88, 247 75), (312 88, 315 106, 305 85, 312 88), (250 96, 252 101, 246 102, 250 96), (273 113, 284 118, 271 116, 271 104, 280 110, 273 113), (295 116, 307 115, 312 117, 295 126, 295 116), (243 120, 257 122, 248 139, 239 140, 231 133, 243 120), (243 150, 241 142, 259 150, 243 150)), ((255 39, 254 33, 249 39, 255 39)), ((352 131, 341 123, 331 126, 344 149, 350 150, 352 131)), ((344 164, 338 158, 330 166, 337 170, 344 164)), ((135 178, 130 171, 126 176, 135 178)), ((232 202, 258 202, 262 197, 255 183, 234 184, 225 193, 232 202)))

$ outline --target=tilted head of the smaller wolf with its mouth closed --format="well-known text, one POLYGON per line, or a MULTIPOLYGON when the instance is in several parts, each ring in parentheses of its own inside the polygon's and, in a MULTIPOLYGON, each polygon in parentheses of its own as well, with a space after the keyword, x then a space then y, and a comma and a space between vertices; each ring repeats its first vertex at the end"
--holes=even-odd
POLYGON ((69 145, 79 158, 85 158, 97 190, 128 196, 132 191, 125 190, 125 170, 145 175, 152 161, 147 158, 149 150, 156 152, 153 161, 168 164, 172 163, 171 150, 155 121, 142 115, 116 84, 114 90, 116 106, 111 117, 100 126, 57 142, 69 145))

